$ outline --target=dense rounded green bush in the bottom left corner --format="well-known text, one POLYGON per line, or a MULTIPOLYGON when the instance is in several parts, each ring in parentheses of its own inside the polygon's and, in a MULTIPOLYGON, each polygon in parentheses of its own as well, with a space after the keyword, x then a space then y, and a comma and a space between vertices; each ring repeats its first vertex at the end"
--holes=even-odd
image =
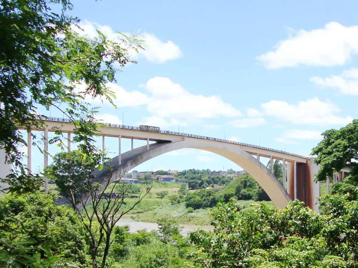
POLYGON ((50 267, 71 259, 74 264, 87 262, 81 223, 72 209, 58 207, 54 201, 54 195, 40 192, 0 198, 1 267, 50 267))

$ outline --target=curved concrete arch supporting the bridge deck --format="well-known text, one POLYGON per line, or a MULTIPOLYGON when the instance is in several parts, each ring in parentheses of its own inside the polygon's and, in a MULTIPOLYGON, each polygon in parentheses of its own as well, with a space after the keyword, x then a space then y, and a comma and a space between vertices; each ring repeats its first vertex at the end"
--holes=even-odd
MULTIPOLYGON (((212 140, 206 141, 184 138, 178 142, 150 144, 149 150, 147 150, 146 146, 143 146, 123 153, 121 156, 121 164, 118 164, 118 157, 113 158, 112 161, 109 162, 112 167, 112 177, 110 181, 114 182, 129 170, 147 160, 174 150, 185 148, 212 152, 240 165, 240 167, 245 169, 256 182, 261 185, 277 208, 283 209, 288 202, 291 201, 290 195, 286 192, 279 180, 277 180, 271 170, 267 169, 259 160, 235 144, 214 142, 212 140)), ((108 174, 108 170, 105 168, 101 171, 95 171, 93 174, 96 176, 96 181, 102 181, 106 174, 108 174)))

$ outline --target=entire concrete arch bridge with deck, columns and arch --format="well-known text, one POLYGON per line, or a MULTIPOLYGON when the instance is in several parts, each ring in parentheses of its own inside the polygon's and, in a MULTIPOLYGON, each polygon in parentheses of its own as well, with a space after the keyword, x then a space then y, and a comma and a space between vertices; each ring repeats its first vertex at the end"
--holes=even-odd
MULTIPOLYGON (((44 128, 34 128, 32 130, 44 131, 47 139, 48 131, 61 130, 68 133, 68 150, 71 150, 71 133, 75 125, 69 119, 64 118, 39 118, 44 122, 44 128)), ((121 178, 126 172, 135 168, 137 165, 152 159, 158 155, 183 148, 195 148, 213 152, 226 157, 232 162, 240 165, 261 185, 278 208, 284 208, 292 199, 300 199, 306 205, 318 211, 316 198, 319 196, 319 183, 314 183, 314 174, 318 167, 313 163, 313 158, 302 155, 284 152, 257 145, 234 142, 218 138, 205 137, 194 134, 178 133, 168 130, 159 132, 142 131, 137 126, 116 125, 106 123, 97 131, 102 136, 102 146, 105 148, 105 137, 116 137, 119 139, 118 156, 113 158, 108 165, 112 167, 111 182, 121 178), (121 153, 121 139, 131 139, 131 150, 121 153), (147 145, 139 148, 133 147, 133 140, 146 140, 147 145), (155 143, 151 143, 154 141, 155 143), (260 157, 271 159, 273 167, 274 159, 287 162, 283 165, 284 180, 281 184, 270 169, 267 169, 260 162, 260 157)), ((31 144, 31 134, 28 133, 28 144, 31 144)), ((47 142, 44 150, 47 151, 47 142)), ((28 148, 28 166, 31 167, 31 147, 28 148)), ((47 155, 44 156, 44 167, 47 166, 47 155)), ((109 174, 106 168, 101 171, 94 171, 96 181, 104 182, 109 174)))

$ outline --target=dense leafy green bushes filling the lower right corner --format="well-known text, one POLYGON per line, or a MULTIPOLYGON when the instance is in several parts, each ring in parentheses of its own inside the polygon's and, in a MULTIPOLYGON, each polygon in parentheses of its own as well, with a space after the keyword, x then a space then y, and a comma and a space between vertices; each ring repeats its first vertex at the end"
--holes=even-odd
POLYGON ((238 211, 233 201, 213 209, 215 229, 190 233, 202 267, 356 267, 358 202, 330 195, 321 214, 291 202, 238 211))

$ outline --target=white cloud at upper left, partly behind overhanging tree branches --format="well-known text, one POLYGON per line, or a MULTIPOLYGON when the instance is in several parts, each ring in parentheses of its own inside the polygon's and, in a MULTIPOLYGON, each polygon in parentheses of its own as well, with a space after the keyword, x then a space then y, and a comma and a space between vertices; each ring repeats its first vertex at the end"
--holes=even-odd
MULTIPOLYGON (((83 29, 83 32, 78 28, 73 29, 77 32, 88 35, 90 38, 98 36, 96 30, 99 30, 101 33, 105 34, 108 39, 117 43, 120 42, 120 39, 124 38, 124 36, 114 31, 108 25, 100 25, 98 23, 84 20, 79 23, 79 26, 83 29)), ((144 43, 146 46, 144 46, 145 50, 139 50, 139 55, 145 56, 148 61, 154 63, 165 63, 168 60, 178 59, 182 56, 179 46, 175 45, 173 41, 166 41, 164 43, 154 34, 143 33, 141 35, 144 37, 144 43)), ((137 53, 134 50, 130 49, 129 52, 132 58, 137 58, 137 53)))

